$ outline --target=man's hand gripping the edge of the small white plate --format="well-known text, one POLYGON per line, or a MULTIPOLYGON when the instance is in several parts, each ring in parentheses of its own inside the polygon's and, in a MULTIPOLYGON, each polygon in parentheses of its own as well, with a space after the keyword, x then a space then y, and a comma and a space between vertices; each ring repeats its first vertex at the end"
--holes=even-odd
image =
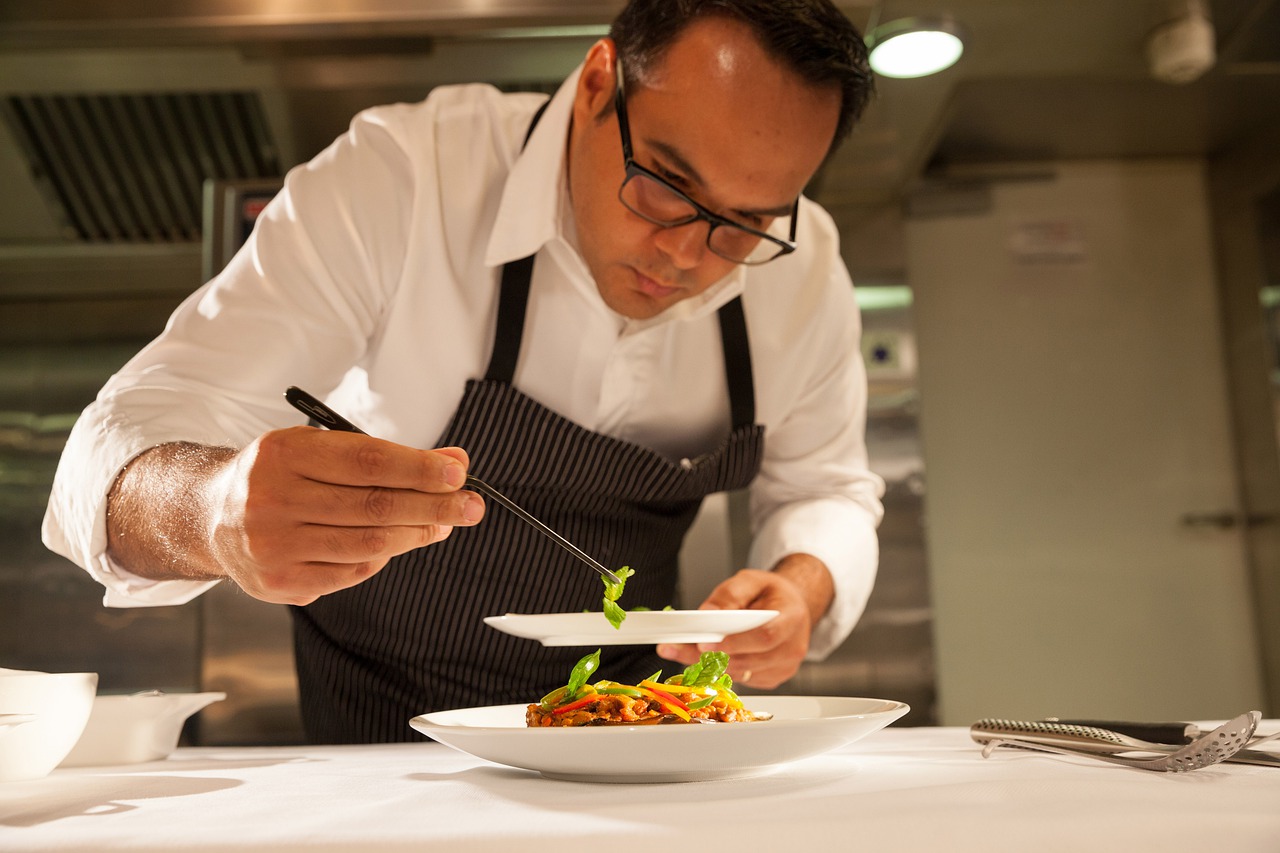
POLYGON ((701 652, 726 652, 736 681, 776 688, 800 669, 809 634, 833 596, 831 573, 809 555, 785 557, 772 571, 742 569, 716 587, 699 610, 776 610, 778 615, 719 643, 663 644, 658 654, 689 666, 701 652))

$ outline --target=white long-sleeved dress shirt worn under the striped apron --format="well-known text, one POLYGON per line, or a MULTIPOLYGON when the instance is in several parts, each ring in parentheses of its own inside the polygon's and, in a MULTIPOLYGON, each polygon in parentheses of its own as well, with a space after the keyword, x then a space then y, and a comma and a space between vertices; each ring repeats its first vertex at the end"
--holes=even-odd
POLYGON ((874 581, 883 483, 867 469, 860 324, 836 228, 803 200, 796 252, 739 266, 652 319, 614 314, 575 248, 564 149, 576 81, 524 150, 541 96, 451 86, 361 113, 289 172, 243 250, 72 430, 44 539, 102 583, 104 603, 177 605, 211 585, 140 578, 106 556, 106 494, 133 456, 174 441, 242 447, 297 425, 288 386, 370 434, 435 447, 488 364, 502 264, 538 252, 516 387, 672 459, 730 430, 716 311, 742 295, 765 426, 750 561, 826 562, 836 599, 810 658, 847 635, 874 581))

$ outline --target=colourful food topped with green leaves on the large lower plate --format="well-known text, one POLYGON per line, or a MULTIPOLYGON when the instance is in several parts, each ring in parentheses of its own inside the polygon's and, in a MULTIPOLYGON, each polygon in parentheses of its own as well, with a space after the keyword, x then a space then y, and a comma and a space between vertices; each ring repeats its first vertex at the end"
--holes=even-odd
POLYGON ((585 656, 570 674, 568 684, 556 688, 525 711, 531 729, 553 726, 658 725, 681 722, 756 722, 742 706, 728 675, 728 654, 703 652, 684 672, 660 681, 655 672, 639 684, 607 679, 588 684, 600 666, 600 649, 585 656))

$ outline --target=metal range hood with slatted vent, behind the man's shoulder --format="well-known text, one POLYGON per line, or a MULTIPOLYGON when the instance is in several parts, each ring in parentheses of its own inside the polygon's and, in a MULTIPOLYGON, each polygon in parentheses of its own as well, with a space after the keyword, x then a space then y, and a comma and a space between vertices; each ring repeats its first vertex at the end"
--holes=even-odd
POLYGON ((552 91, 618 5, 6 1, 0 246, 198 243, 204 181, 278 177, 440 83, 552 91))

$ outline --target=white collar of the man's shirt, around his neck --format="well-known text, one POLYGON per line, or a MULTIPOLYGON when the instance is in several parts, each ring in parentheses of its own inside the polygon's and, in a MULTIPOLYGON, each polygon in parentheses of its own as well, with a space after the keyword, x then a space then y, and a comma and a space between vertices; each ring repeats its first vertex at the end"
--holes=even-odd
MULTIPOLYGON (((575 256, 577 255, 577 240, 573 233, 576 225, 568 197, 564 152, 573 111, 573 96, 581 73, 582 67, 579 65, 561 83, 556 95, 547 104, 529 142, 516 156, 516 163, 507 175, 493 233, 489 236, 489 243, 485 248, 485 264, 490 266, 527 257, 557 238, 567 243, 575 256)), ((521 138, 526 131, 527 126, 522 126, 521 138)), ((579 263, 585 272, 586 264, 581 263, 581 259, 579 263)), ((662 314, 646 320, 626 320, 623 328, 626 332, 634 333, 669 320, 691 320, 712 314, 742 293, 745 287, 746 268, 739 265, 698 296, 681 300, 662 314)), ((594 282, 590 289, 591 295, 599 300, 594 282)), ((600 305, 603 306, 603 301, 600 305)))

